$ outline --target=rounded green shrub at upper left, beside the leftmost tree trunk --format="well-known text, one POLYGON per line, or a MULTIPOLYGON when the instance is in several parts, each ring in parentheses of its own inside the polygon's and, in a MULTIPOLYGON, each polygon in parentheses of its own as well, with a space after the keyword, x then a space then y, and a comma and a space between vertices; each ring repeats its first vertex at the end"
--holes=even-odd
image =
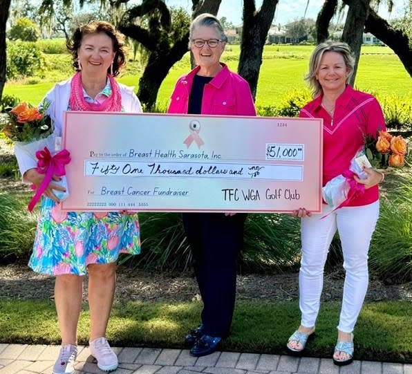
POLYGON ((20 77, 32 77, 44 64, 44 57, 37 44, 30 41, 14 41, 7 44, 8 80, 20 77))

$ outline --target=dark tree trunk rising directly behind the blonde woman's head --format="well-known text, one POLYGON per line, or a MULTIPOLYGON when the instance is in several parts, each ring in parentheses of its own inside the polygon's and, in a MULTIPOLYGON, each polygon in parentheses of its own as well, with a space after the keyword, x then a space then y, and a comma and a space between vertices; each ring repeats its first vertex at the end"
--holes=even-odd
POLYGON ((355 58, 355 66, 353 67, 353 75, 350 77, 349 84, 355 84, 355 77, 357 72, 357 65, 359 64, 360 49, 362 46, 362 35, 365 29, 365 22, 369 15, 369 3, 371 0, 352 0, 347 1, 349 5, 348 15, 346 15, 346 22, 344 33, 342 34, 342 41, 349 44, 352 55, 355 58))

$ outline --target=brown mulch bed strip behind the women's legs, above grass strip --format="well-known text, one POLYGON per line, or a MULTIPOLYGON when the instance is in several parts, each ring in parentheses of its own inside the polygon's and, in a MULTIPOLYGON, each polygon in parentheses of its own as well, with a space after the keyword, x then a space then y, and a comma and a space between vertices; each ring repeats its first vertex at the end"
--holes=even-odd
MULTIPOLYGON (((340 300, 344 274, 330 272, 324 279, 323 300, 340 300)), ((87 297, 87 282, 84 297, 87 297)), ((0 299, 53 299, 54 278, 32 272, 26 265, 0 266, 0 299)), ((297 273, 243 274, 238 276, 237 298, 264 301, 295 300, 297 273)), ((118 268, 117 301, 192 301, 200 299, 191 272, 144 272, 126 266, 118 268)), ((385 285, 372 278, 367 301, 412 301, 412 282, 385 285)))

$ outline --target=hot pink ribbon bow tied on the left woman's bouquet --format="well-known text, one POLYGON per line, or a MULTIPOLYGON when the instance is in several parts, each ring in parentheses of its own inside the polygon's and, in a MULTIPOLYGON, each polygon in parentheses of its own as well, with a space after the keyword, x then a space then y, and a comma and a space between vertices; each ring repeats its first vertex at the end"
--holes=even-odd
MULTIPOLYGON (((47 147, 44 147, 41 151, 36 152, 37 158, 37 172, 40 174, 46 174, 41 181, 39 188, 37 189, 35 196, 32 197, 30 203, 28 203, 27 209, 29 212, 33 210, 41 194, 45 191, 48 184, 52 180, 53 176, 64 176, 66 171, 64 165, 67 165, 71 161, 70 152, 67 149, 62 149, 55 156, 51 156, 47 147)), ((32 189, 36 189, 35 185, 32 185, 32 189)))

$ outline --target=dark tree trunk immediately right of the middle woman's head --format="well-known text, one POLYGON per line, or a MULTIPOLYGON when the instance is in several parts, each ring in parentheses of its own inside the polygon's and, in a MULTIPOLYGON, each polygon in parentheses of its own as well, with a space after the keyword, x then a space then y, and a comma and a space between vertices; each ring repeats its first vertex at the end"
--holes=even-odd
POLYGON ((263 0, 256 11, 254 0, 243 0, 243 29, 238 73, 249 82, 253 99, 259 80, 263 47, 276 10, 278 0, 263 0))

